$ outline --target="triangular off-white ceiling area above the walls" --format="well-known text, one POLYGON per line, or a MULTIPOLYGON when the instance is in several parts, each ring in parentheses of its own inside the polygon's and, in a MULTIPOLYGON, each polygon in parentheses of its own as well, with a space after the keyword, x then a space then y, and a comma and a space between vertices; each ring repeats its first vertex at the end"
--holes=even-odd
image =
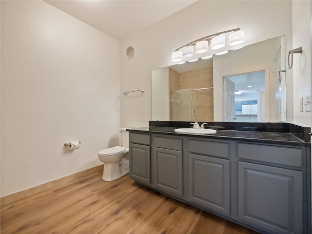
POLYGON ((125 39, 197 0, 44 0, 103 33, 125 39))

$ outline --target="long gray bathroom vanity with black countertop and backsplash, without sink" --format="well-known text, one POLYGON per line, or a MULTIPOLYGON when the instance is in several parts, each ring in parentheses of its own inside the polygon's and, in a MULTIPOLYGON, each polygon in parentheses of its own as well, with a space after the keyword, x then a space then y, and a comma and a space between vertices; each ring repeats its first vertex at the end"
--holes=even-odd
POLYGON ((260 233, 311 233, 310 128, 209 122, 215 134, 190 135, 174 131, 189 122, 149 125, 128 130, 137 183, 260 233))

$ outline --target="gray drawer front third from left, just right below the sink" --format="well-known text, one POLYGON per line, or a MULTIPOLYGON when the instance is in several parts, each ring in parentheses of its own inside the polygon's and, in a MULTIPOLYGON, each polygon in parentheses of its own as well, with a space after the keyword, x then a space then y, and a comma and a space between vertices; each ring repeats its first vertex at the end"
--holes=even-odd
POLYGON ((189 140, 189 152, 229 158, 229 144, 212 141, 189 140))

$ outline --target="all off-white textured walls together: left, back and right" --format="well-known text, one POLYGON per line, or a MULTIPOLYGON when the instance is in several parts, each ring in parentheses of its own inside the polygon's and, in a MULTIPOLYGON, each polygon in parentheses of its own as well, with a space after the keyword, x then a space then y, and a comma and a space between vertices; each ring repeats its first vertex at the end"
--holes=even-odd
POLYGON ((151 71, 172 65, 177 47, 232 28, 245 30, 246 44, 286 35, 286 51, 303 46, 294 59, 293 96, 287 69, 288 119, 310 125, 311 113, 292 112, 296 99, 311 94, 310 4, 198 1, 119 48, 45 2, 1 1, 1 196, 99 165, 98 151, 118 143, 119 108, 122 127, 151 120, 151 71), (144 94, 122 94, 137 89, 144 94), (81 147, 67 151, 69 140, 81 147))

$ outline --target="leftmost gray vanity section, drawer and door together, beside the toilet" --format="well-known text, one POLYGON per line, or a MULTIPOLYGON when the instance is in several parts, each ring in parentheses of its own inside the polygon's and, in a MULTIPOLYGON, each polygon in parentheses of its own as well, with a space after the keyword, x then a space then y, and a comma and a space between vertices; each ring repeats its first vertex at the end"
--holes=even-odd
POLYGON ((151 184, 151 136, 129 133, 129 142, 130 177, 151 184))

